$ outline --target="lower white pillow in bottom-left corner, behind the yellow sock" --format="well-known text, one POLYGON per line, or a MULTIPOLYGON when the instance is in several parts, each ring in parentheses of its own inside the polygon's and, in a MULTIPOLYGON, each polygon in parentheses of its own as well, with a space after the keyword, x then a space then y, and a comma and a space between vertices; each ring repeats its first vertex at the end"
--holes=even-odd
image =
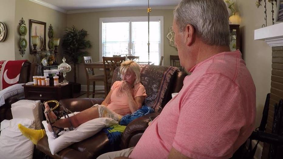
POLYGON ((30 119, 18 118, 1 122, 0 156, 5 159, 32 159, 34 144, 22 135, 19 123, 27 128, 35 127, 34 121, 30 119))

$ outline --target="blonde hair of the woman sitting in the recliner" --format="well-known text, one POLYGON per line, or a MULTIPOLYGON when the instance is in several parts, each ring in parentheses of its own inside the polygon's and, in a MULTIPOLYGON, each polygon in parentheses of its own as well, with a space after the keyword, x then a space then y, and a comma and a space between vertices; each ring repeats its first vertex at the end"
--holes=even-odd
POLYGON ((140 69, 140 66, 138 65, 138 63, 136 63, 133 60, 127 60, 127 61, 124 61, 123 63, 121 63, 120 73, 122 75, 124 75, 127 72, 128 69, 130 69, 130 71, 134 72, 135 75, 136 75, 134 85, 137 84, 137 83, 140 83, 140 81, 141 81, 141 69, 140 69))

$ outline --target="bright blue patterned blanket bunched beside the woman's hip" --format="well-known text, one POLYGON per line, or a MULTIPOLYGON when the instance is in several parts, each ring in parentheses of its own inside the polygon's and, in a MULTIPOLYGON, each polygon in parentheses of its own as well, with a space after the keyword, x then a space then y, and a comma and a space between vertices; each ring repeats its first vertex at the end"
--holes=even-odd
POLYGON ((128 125, 134 119, 136 119, 138 117, 142 117, 142 116, 147 115, 149 113, 153 113, 153 112, 154 112, 154 110, 151 107, 142 106, 141 109, 135 111, 134 113, 128 114, 128 115, 125 115, 124 117, 122 117, 122 119, 120 121, 120 125, 128 125))

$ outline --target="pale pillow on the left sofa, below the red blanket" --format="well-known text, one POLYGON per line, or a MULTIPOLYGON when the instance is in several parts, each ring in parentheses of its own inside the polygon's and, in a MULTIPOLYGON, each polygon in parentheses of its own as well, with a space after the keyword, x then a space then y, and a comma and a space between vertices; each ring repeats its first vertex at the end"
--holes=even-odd
POLYGON ((0 91, 0 107, 5 104, 5 100, 11 96, 24 92, 23 83, 14 84, 0 91))

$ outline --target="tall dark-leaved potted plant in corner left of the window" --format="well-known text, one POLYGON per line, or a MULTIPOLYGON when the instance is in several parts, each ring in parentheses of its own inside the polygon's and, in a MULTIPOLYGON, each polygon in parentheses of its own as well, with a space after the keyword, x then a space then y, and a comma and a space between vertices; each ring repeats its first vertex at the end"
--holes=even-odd
POLYGON ((84 38, 88 35, 84 29, 78 30, 74 25, 67 27, 66 34, 63 35, 63 54, 68 59, 69 63, 74 65, 74 92, 80 92, 80 83, 77 83, 77 64, 80 64, 83 56, 88 54, 85 49, 90 48, 91 44, 89 40, 84 38))

